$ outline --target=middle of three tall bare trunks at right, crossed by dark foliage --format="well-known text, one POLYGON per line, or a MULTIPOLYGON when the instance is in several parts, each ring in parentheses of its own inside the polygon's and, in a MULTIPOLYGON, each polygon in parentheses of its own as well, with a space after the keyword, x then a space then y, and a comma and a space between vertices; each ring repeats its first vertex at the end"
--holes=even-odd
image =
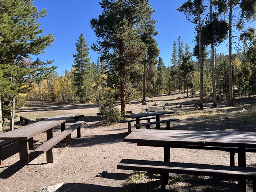
MULTIPOLYGON (((212 0, 210 0, 210 20, 212 22, 212 0)), ((212 65, 212 97, 213 107, 217 107, 217 94, 216 94, 216 75, 215 75, 215 57, 214 57, 214 44, 211 43, 211 65, 212 65)))

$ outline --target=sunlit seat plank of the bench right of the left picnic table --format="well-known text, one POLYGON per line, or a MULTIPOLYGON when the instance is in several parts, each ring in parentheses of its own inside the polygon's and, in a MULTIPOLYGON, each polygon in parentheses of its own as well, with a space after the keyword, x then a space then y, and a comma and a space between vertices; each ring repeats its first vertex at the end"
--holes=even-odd
POLYGON ((51 149, 54 145, 56 145, 61 140, 63 140, 65 137, 70 135, 75 129, 80 127, 80 125, 82 125, 83 123, 84 123, 84 121, 78 121, 78 122, 72 124, 70 127, 65 129, 64 131, 62 131, 58 135, 54 136, 53 138, 51 138, 51 139, 47 140, 46 142, 44 142, 43 144, 41 144, 33 152, 40 153, 40 154, 45 153, 46 151, 51 149))

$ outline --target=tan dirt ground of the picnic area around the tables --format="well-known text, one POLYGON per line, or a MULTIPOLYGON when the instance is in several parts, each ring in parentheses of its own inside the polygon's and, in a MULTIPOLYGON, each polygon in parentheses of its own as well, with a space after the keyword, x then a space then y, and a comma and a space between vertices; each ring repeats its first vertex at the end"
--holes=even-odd
MULTIPOLYGON (((256 131, 256 98, 238 98, 236 107, 226 108, 227 101, 219 103, 217 109, 211 108, 210 99, 206 99, 206 109, 177 108, 176 104, 196 104, 199 99, 185 98, 186 94, 161 95, 148 98, 148 105, 137 105, 133 101, 127 110, 133 113, 142 112, 142 108, 154 107, 154 102, 163 106, 172 103, 172 115, 161 117, 180 118, 172 123, 172 129, 177 130, 225 130, 225 131, 256 131), (179 97, 179 98, 178 98, 179 97)), ((119 105, 117 105, 120 107, 119 105)), ((63 143, 53 148, 54 163, 46 163, 46 154, 35 156, 31 154, 30 163, 19 162, 18 144, 14 143, 3 148, 4 161, 0 166, 0 191, 34 192, 44 185, 55 185, 63 182, 59 192, 79 191, 158 191, 159 175, 147 174, 147 180, 139 184, 127 184, 131 171, 117 170, 117 164, 123 158, 163 161, 163 149, 158 147, 136 146, 134 143, 124 143, 128 135, 127 124, 103 126, 101 117, 96 116, 97 104, 53 104, 27 103, 27 107, 18 111, 18 116, 31 120, 51 117, 57 114, 84 114, 80 120, 87 121, 81 129, 81 138, 72 133, 72 146, 63 147, 63 143), (102 177, 93 177, 107 171, 102 177)), ((72 123, 70 121, 69 123, 72 123)), ((54 135, 60 132, 60 127, 54 129, 54 135)), ((46 140, 46 133, 34 137, 35 147, 46 140)), ((171 148, 171 161, 229 165, 229 153, 225 151, 193 150, 171 148)), ((246 154, 246 165, 256 166, 256 154, 246 154)), ((236 154, 237 164, 237 154, 236 154)), ((223 180, 212 177, 195 177, 170 174, 169 191, 238 191, 237 180, 223 180), (184 178, 180 180, 179 178, 184 178), (178 179, 177 179, 178 178, 178 179)), ((247 182, 248 191, 252 191, 251 181, 247 182)))

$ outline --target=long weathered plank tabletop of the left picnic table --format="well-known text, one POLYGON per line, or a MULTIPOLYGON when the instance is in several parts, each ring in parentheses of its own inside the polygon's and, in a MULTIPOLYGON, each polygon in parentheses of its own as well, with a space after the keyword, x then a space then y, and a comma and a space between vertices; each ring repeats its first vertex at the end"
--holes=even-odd
POLYGON ((63 114, 47 118, 45 120, 26 125, 22 128, 15 129, 0 134, 0 140, 27 140, 39 133, 45 132, 50 128, 54 128, 68 119, 75 117, 76 114, 63 114))

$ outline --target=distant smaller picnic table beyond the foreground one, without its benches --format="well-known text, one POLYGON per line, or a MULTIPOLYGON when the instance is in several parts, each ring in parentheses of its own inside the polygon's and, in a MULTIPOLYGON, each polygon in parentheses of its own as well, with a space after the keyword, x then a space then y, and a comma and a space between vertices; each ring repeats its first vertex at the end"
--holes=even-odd
MULTIPOLYGON (((173 112, 167 112, 167 111, 160 111, 160 112, 148 112, 148 113, 134 113, 134 114, 126 114, 123 115, 122 117, 125 118, 135 118, 136 119, 136 124, 140 123, 140 118, 142 117, 150 117, 150 116, 155 116, 155 121, 160 121, 160 116, 165 115, 165 114, 171 114, 173 112)), ((136 127, 136 129, 139 129, 140 127, 136 127)), ((160 129, 160 124, 156 124, 156 128, 160 129)))

